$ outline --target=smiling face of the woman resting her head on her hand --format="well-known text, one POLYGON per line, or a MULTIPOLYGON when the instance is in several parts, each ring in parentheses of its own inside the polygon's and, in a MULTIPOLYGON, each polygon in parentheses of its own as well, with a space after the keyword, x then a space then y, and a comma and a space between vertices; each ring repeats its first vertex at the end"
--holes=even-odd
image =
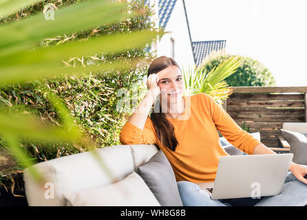
POLYGON ((183 76, 178 67, 171 65, 157 73, 159 76, 158 86, 162 98, 168 103, 181 101, 184 91, 183 76))

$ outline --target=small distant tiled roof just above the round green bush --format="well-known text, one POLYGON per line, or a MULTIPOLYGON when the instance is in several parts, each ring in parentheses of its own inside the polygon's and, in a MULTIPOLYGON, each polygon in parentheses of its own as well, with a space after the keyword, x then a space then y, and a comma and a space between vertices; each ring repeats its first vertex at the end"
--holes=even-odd
POLYGON ((224 50, 226 40, 221 41, 193 41, 193 55, 195 64, 198 66, 202 63, 204 58, 212 51, 224 50))

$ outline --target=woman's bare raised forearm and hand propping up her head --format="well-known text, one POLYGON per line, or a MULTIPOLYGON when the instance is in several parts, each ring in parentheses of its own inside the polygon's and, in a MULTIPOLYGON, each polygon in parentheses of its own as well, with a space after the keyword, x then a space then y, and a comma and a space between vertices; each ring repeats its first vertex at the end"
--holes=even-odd
POLYGON ((149 90, 145 98, 143 98, 134 113, 132 113, 127 120, 127 122, 137 126, 141 130, 145 126, 151 106, 154 104, 156 97, 160 94, 160 87, 157 85, 158 81, 158 74, 151 74, 149 76, 147 79, 147 87, 149 90))

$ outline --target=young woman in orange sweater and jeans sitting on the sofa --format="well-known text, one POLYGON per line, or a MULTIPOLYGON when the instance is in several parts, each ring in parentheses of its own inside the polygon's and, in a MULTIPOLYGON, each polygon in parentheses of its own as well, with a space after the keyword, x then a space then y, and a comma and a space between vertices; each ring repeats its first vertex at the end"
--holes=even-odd
MULTIPOLYGON (((275 152, 242 130, 211 96, 183 96, 182 72, 172 58, 156 58, 147 76, 147 94, 120 131, 120 142, 158 145, 171 163, 184 206, 228 205, 230 200, 210 199, 197 184, 214 182, 219 158, 228 155, 220 146, 218 131, 244 153, 275 152)), ((282 193, 264 197, 256 205, 307 204, 307 166, 292 163, 289 170, 282 193)))

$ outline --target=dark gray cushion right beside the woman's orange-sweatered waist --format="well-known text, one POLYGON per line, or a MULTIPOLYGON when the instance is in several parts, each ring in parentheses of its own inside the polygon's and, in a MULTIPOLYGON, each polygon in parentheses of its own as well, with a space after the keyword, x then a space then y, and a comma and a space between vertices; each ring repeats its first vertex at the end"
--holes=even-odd
POLYGON ((136 173, 142 177, 161 206, 183 206, 173 168, 161 150, 146 164, 139 166, 136 173))

